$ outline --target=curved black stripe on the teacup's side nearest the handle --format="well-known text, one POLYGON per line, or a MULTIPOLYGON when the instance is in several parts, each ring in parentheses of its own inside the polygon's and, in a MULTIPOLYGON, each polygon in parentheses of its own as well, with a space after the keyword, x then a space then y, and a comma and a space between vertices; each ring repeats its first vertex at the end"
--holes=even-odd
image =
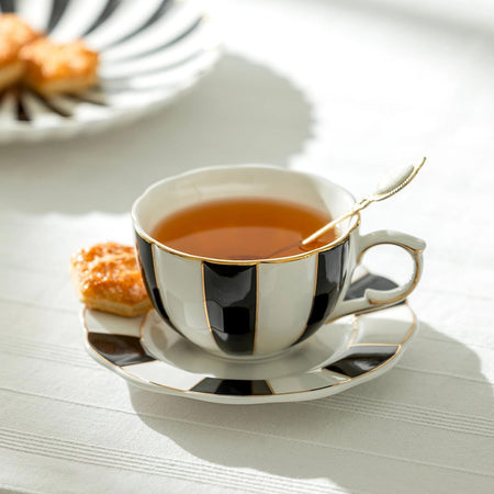
POLYGON ((311 314, 304 333, 293 345, 312 336, 335 307, 347 278, 347 256, 348 240, 317 255, 317 278, 311 314))

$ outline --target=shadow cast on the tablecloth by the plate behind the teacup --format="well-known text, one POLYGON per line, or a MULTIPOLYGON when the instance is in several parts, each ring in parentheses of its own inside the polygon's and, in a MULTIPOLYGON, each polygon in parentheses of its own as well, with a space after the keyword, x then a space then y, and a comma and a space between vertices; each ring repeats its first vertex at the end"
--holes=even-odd
POLYGON ((3 146, 0 207, 126 212, 158 179, 211 165, 285 165, 310 136, 311 109, 288 79, 226 55, 187 96, 139 122, 71 141, 3 146))

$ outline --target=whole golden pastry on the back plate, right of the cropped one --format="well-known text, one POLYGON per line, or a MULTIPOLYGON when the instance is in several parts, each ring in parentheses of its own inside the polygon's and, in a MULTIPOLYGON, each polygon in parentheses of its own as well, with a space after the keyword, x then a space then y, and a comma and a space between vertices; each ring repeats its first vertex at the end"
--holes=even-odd
POLYGON ((79 93, 97 82, 98 53, 80 40, 60 45, 40 38, 19 58, 25 64, 24 83, 42 94, 79 93))

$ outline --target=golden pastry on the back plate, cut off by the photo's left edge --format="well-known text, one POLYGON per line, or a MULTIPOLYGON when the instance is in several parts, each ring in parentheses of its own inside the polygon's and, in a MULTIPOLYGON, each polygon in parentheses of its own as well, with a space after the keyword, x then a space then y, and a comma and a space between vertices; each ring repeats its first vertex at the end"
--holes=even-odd
POLYGON ((19 52, 38 36, 18 15, 0 15, 0 91, 22 79, 24 63, 19 59, 19 52))

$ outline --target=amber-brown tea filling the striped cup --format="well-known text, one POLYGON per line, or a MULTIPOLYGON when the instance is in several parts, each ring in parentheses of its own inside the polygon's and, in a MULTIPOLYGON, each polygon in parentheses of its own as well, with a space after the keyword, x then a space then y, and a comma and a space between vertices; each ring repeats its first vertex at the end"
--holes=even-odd
POLYGON ((336 229, 310 246, 279 249, 302 242, 330 222, 328 213, 289 201, 263 198, 207 201, 165 217, 153 237, 176 250, 216 259, 288 257, 335 240, 336 229))

